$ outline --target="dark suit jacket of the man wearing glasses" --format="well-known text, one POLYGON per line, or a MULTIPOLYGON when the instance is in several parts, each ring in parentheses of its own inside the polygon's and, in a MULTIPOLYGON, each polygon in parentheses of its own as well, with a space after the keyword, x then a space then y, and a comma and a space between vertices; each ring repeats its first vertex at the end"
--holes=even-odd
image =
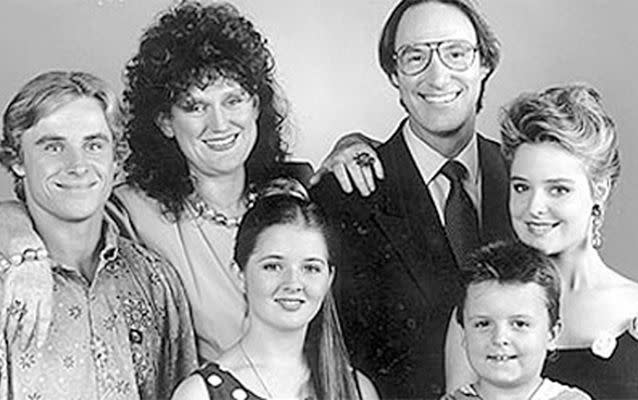
MULTIPOLYGON (((341 234, 336 294, 354 366, 382 398, 438 399, 458 267, 401 131, 378 148, 386 178, 372 196, 344 194, 332 176, 313 196, 341 234)), ((478 147, 487 243, 513 234, 498 144, 479 135, 478 147)))

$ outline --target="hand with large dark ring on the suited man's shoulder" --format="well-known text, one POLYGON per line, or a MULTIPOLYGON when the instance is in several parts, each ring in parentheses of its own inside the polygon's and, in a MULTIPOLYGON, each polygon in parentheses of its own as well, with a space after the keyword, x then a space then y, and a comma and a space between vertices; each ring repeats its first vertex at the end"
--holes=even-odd
POLYGON ((374 177, 384 178, 383 166, 374 150, 378 144, 361 133, 343 136, 310 178, 310 185, 317 184, 322 175, 332 172, 344 192, 351 193, 354 182, 362 196, 369 196, 376 189, 374 177))

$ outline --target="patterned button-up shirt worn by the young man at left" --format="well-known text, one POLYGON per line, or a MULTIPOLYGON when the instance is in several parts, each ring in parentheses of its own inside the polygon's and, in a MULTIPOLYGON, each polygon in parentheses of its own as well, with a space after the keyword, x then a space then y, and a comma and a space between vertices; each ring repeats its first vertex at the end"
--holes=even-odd
POLYGON ((168 399, 196 367, 176 272, 105 227, 92 282, 53 267, 53 319, 42 348, 22 349, 0 332, 0 399, 168 399))

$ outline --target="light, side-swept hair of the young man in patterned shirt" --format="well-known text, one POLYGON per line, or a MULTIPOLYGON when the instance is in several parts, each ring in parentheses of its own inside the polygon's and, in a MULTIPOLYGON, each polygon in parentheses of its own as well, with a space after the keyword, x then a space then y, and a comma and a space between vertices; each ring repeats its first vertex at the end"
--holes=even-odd
MULTIPOLYGON (((3 138, 0 142, 0 163, 13 172, 11 166, 23 161, 22 135, 58 108, 82 97, 98 101, 113 134, 115 161, 127 155, 124 140, 124 114, 115 93, 102 79, 87 72, 49 71, 28 81, 13 97, 2 118, 3 138)), ((22 180, 14 175, 14 191, 24 200, 22 180)))

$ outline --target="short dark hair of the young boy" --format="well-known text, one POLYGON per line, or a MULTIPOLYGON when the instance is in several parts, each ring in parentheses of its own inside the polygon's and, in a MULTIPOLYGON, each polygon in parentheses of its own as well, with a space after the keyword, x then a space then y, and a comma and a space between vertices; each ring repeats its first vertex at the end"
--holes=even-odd
POLYGON ((502 285, 536 283, 545 292, 550 327, 556 325, 560 309, 560 275, 551 259, 521 242, 498 241, 472 252, 461 266, 463 290, 456 319, 463 326, 463 312, 470 285, 498 282, 502 285))

